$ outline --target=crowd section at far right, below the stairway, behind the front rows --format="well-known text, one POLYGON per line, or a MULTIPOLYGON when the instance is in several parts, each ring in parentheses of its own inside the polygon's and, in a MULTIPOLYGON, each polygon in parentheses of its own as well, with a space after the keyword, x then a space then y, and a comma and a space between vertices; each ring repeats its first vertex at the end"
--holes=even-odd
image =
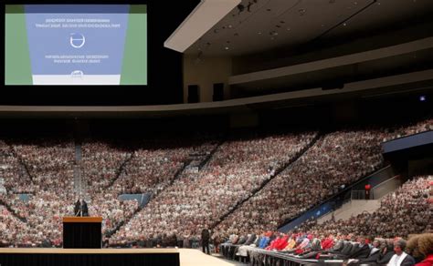
POLYGON ((421 176, 407 181, 401 188, 381 200, 381 207, 373 213, 364 212, 350 220, 329 220, 317 224, 307 222, 301 230, 321 231, 325 234, 341 232, 373 235, 384 238, 431 230, 433 205, 429 198, 433 176, 421 176))

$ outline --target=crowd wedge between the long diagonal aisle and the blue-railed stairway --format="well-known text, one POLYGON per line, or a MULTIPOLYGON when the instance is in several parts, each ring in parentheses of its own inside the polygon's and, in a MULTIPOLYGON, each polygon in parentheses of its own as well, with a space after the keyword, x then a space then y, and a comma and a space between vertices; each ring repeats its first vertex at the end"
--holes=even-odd
POLYGON ((285 220, 332 196, 342 186, 383 165, 381 130, 342 130, 326 134, 292 166, 246 201, 214 232, 220 236, 276 230, 285 220), (282 189, 284 188, 284 189, 282 189))

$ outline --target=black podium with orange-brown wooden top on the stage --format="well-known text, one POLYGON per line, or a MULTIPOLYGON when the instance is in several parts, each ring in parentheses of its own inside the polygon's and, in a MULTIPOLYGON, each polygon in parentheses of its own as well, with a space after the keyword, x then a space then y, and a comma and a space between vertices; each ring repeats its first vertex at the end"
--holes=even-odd
POLYGON ((63 248, 102 248, 102 217, 64 217, 63 248))

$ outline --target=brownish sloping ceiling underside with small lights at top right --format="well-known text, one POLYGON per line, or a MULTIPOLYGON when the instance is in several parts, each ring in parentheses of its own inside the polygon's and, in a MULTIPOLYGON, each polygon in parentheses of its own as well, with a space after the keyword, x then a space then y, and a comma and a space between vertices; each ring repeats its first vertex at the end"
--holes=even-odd
POLYGON ((431 20, 431 0, 242 0, 185 54, 243 56, 431 20))

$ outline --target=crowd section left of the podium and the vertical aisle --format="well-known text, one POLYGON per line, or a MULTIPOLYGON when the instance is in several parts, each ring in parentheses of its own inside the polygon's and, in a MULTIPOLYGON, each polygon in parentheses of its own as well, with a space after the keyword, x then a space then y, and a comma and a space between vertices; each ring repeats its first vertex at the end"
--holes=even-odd
MULTIPOLYGON (((15 231, 15 244, 56 246, 61 243, 61 217, 70 212, 73 195, 72 162, 74 149, 68 139, 9 140, 9 160, 16 163, 11 179, 26 169, 27 184, 21 192, 31 192, 28 201, 11 190, 3 202, 26 222, 26 230, 15 231), (21 169, 21 171, 19 171, 21 169)), ((8 177, 6 177, 8 179, 8 177)), ((18 182, 17 182, 18 183, 18 182)), ((17 184, 11 187, 17 187, 17 184)), ((11 229, 13 231, 13 229, 11 229)))

